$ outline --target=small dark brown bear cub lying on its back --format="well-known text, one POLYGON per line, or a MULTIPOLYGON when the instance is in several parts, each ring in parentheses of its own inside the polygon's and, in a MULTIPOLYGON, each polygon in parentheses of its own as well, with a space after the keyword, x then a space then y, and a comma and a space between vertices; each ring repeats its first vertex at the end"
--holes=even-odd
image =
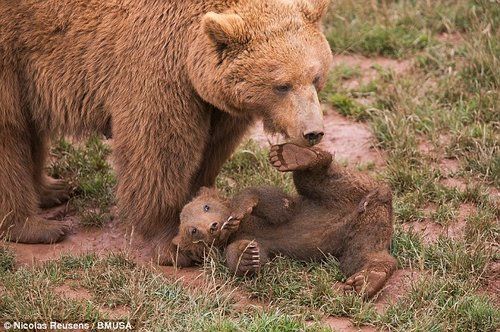
POLYGON ((225 248, 232 272, 252 275, 276 255, 304 261, 333 255, 349 277, 346 289, 375 295, 396 267, 389 187, 339 166, 319 148, 276 145, 270 160, 293 172, 298 195, 254 187, 226 201, 203 188, 182 210, 172 262, 201 262, 213 245, 225 248))

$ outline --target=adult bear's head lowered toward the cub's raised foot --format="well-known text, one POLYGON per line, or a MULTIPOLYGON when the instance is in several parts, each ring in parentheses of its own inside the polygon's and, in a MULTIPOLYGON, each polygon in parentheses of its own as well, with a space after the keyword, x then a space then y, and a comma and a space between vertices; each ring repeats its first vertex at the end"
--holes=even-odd
POLYGON ((318 100, 332 55, 320 21, 328 0, 243 0, 201 19, 188 70, 206 102, 259 116, 270 133, 314 145, 323 136, 318 100))

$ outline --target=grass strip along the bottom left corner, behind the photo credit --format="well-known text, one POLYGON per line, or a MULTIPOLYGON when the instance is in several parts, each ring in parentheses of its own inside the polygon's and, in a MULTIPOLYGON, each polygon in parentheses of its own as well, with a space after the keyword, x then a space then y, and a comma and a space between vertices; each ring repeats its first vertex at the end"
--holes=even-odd
POLYGON ((151 267, 114 254, 65 256, 37 267, 0 274, 0 320, 88 322, 118 319, 151 331, 325 331, 279 310, 235 307, 233 289, 188 288, 151 267), (69 287, 86 296, 68 298, 69 287), (36 294, 36 296, 33 296, 36 294))

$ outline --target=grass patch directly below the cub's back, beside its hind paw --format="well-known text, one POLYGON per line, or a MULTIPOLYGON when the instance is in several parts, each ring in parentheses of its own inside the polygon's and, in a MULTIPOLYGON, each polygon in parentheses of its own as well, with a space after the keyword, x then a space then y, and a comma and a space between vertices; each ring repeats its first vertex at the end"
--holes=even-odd
POLYGON ((271 307, 306 320, 326 316, 345 316, 356 323, 367 324, 376 317, 371 303, 355 294, 344 294, 334 285, 345 277, 333 257, 323 263, 304 263, 276 257, 254 278, 236 278, 224 265, 220 255, 211 256, 205 265, 211 278, 241 287, 252 297, 271 303, 271 307), (229 281, 228 281, 229 280, 229 281))

